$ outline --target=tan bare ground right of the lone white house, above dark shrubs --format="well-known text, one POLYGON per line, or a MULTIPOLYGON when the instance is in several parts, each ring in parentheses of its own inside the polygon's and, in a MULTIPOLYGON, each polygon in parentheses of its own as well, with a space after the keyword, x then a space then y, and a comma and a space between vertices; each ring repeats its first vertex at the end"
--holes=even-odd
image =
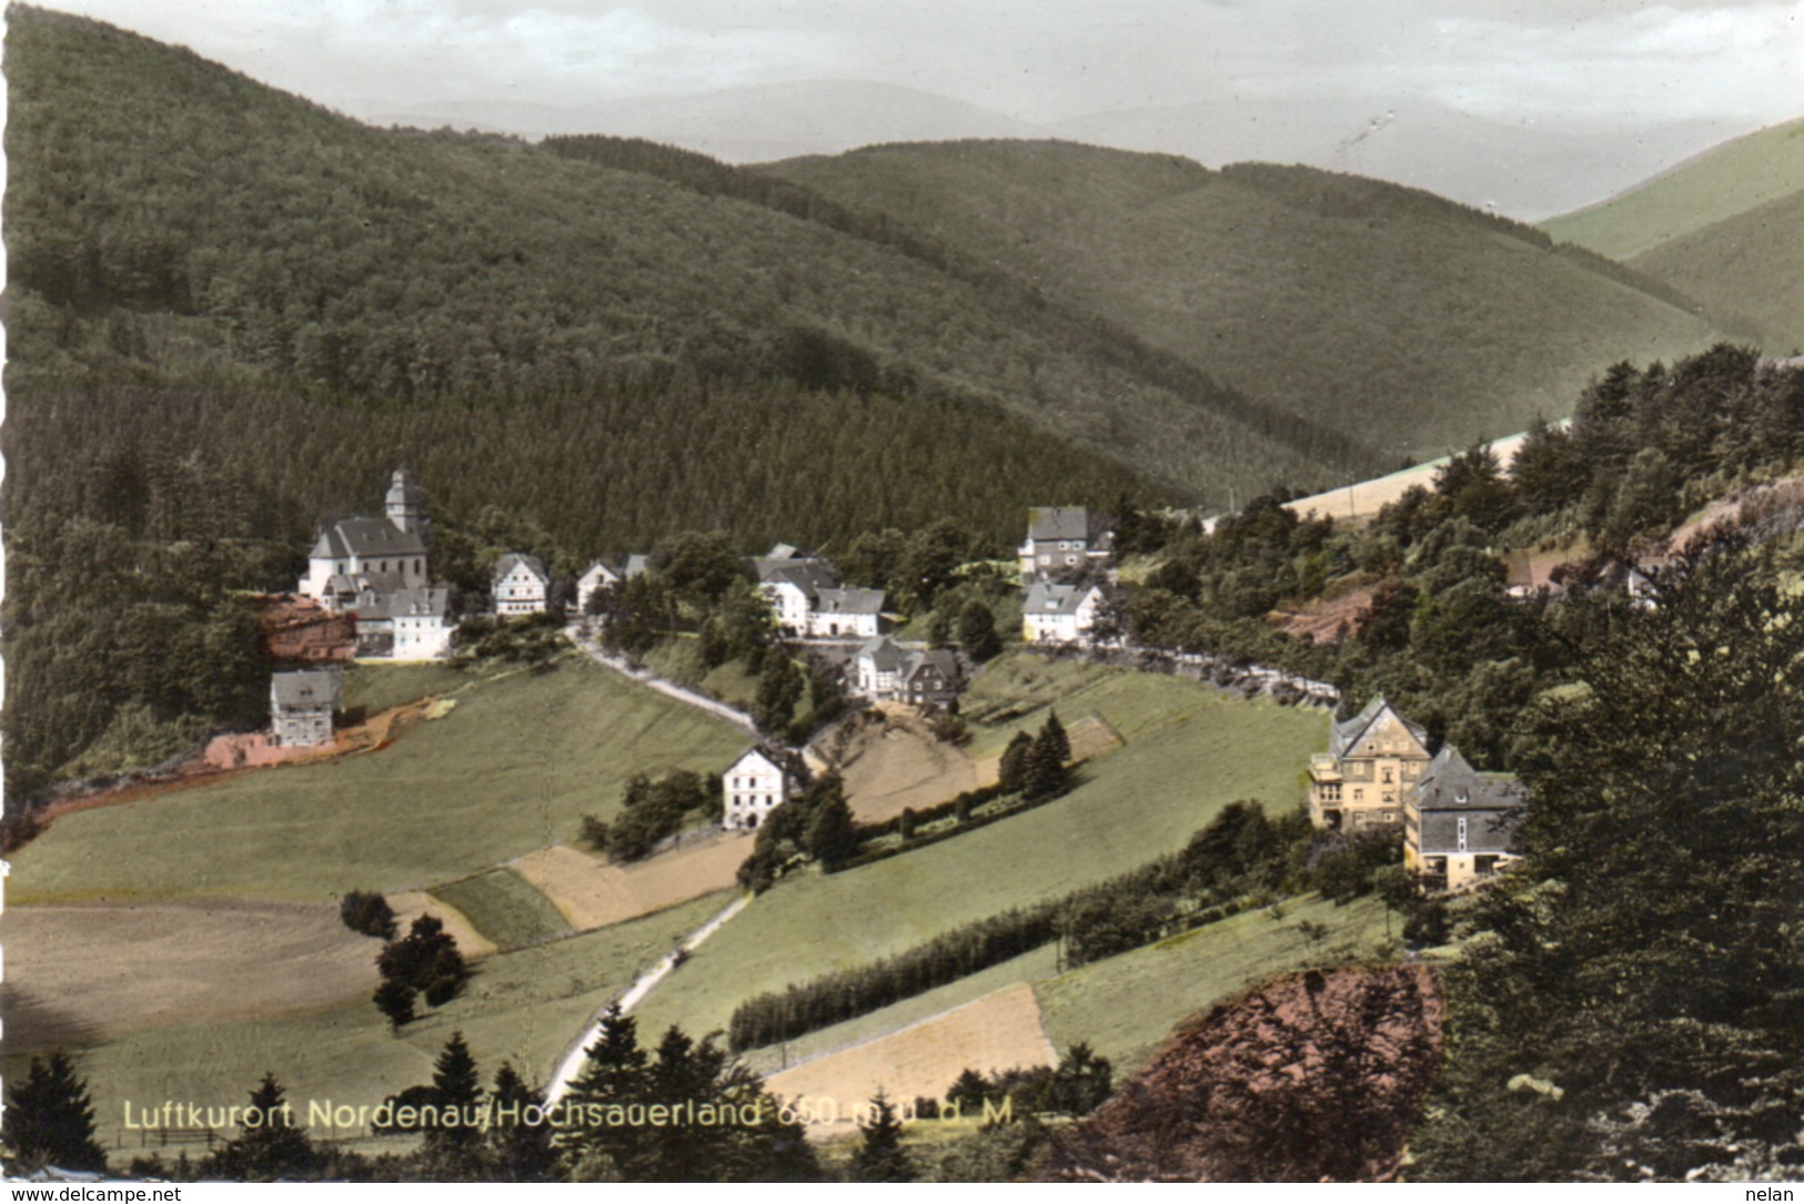
POLYGON ((861 726, 841 755, 846 802, 861 824, 880 824, 902 811, 947 802, 996 780, 963 748, 936 737, 911 707, 880 707, 880 721, 861 726))

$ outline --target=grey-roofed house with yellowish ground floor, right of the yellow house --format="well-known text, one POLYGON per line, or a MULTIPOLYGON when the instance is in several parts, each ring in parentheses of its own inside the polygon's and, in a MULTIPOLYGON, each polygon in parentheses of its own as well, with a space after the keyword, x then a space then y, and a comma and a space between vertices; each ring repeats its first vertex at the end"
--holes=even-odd
POLYGON ((1423 885, 1458 890, 1519 860, 1526 802, 1515 779, 1485 777, 1450 744, 1404 791, 1404 865, 1423 885))

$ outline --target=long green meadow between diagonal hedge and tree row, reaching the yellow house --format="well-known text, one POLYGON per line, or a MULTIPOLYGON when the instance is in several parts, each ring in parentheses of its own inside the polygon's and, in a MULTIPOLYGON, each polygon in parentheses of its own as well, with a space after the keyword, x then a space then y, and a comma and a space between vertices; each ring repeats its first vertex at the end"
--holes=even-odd
MULTIPOLYGON (((1023 660, 1030 658, 1001 663, 1023 660)), ((1054 667, 1066 669, 1077 667, 1054 667)), ((1100 712, 1128 744, 1091 766, 1077 789, 916 853, 779 883, 646 1000, 648 1026, 723 1027, 749 995, 900 952, 1171 853, 1234 798, 1284 806, 1322 741, 1315 712, 1225 701, 1174 678, 1088 672, 1109 681, 1081 690, 1082 710, 1100 712)))

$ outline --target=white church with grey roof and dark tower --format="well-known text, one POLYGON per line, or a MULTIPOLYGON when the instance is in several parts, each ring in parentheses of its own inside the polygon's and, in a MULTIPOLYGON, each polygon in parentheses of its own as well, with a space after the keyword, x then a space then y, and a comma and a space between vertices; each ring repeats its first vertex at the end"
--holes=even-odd
POLYGON ((395 469, 382 517, 332 519, 319 528, 298 593, 337 611, 366 591, 426 586, 431 530, 426 490, 408 469, 395 469))

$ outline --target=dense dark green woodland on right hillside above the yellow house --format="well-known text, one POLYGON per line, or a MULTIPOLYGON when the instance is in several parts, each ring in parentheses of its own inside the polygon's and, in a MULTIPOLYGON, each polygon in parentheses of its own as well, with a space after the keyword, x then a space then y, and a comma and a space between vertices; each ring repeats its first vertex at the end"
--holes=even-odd
MULTIPOLYGON (((1804 373, 1766 371, 1721 344, 1667 368, 1613 366, 1569 425, 1539 424, 1512 472, 1483 449, 1449 460, 1358 530, 1299 519, 1281 496, 1212 535, 1167 526, 1162 566, 1133 593, 1135 638, 1335 683, 1349 705, 1384 692, 1431 737, 1505 768, 1515 716, 1569 681, 1591 611, 1505 593, 1503 553, 1548 557, 1582 537, 1560 586, 1620 584, 1660 541, 1741 479, 1804 456, 1804 373), (1367 588, 1340 640, 1284 634, 1268 615, 1367 588)), ((1155 543, 1142 534, 1142 539, 1155 543)))

